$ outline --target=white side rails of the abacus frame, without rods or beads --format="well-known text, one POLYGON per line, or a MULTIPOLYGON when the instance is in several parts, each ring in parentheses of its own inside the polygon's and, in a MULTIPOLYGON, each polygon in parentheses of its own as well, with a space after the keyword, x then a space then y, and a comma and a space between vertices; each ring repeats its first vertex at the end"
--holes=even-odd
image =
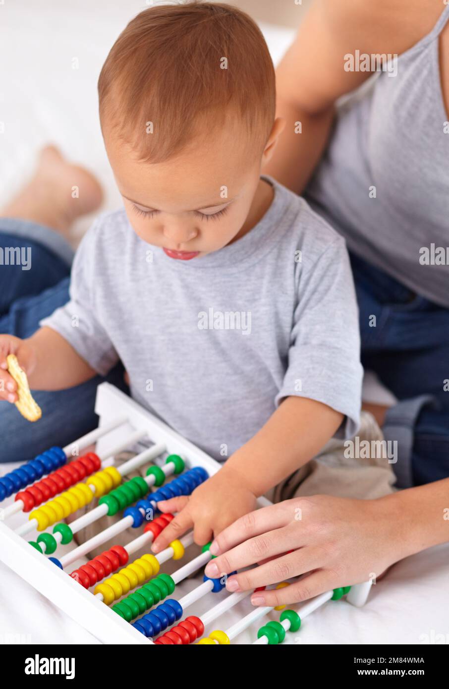
MULTIPOLYGON (((220 464, 207 453, 182 438, 128 395, 107 382, 98 386, 95 411, 99 416, 100 427, 110 424, 117 418, 127 418, 127 423, 103 435, 97 441, 98 454, 107 453, 109 449, 116 447, 130 432, 145 430, 151 442, 163 443, 167 453, 180 455, 188 469, 192 466, 202 466, 209 475, 220 469, 220 464)), ((260 506, 267 504, 270 503, 266 498, 260 498, 260 506)), ((104 644, 153 644, 151 639, 147 639, 134 629, 47 557, 42 557, 41 553, 30 547, 28 540, 14 533, 8 524, 2 522, 0 559, 104 644)), ((363 605, 368 597, 369 588, 368 583, 353 586, 347 596, 348 602, 355 606, 363 605)))

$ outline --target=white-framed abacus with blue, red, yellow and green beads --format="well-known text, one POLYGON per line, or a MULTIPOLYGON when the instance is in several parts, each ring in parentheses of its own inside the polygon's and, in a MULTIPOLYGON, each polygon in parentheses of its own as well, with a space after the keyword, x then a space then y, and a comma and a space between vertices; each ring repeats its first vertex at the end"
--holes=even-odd
MULTIPOLYGON (((234 639, 238 643, 243 630, 254 628, 254 644, 273 645, 282 643, 288 631, 297 632, 304 617, 330 599, 345 596, 355 606, 364 604, 369 582, 328 591, 306 601, 298 610, 282 609, 279 621, 267 621, 260 627, 256 623, 273 608, 254 608, 247 600, 247 613, 228 628, 217 630, 213 622, 251 592, 229 594, 225 578, 204 576, 199 586, 179 596, 179 584, 209 562, 208 546, 171 575, 160 572, 160 567, 169 559, 185 555, 193 544, 192 533, 172 542, 158 555, 152 555, 149 546, 173 518, 169 514, 154 516, 156 502, 188 495, 216 473, 220 464, 107 382, 98 386, 95 411, 100 419, 98 429, 64 449, 53 447, 0 478, 0 500, 15 493, 14 500, 2 510, 0 553, 12 570, 100 641, 230 644, 234 639), (143 440, 152 444, 118 468, 114 466, 116 454, 143 440), (94 442, 95 453, 83 455, 83 449, 94 442), (69 461, 71 457, 76 458, 69 461), (127 474, 149 462, 152 466, 145 478, 126 480, 127 474), (167 477, 173 476, 165 483, 167 477), (75 515, 70 525, 65 523, 68 515, 87 504, 92 506, 90 511, 75 515), (59 546, 70 544, 81 528, 103 515, 118 513, 123 513, 118 522, 58 557, 59 546), (8 525, 13 515, 14 520, 23 516, 15 529, 8 525), (72 570, 74 562, 130 526, 137 535, 129 543, 112 546, 72 570), (36 539, 28 540, 30 534, 36 539), (133 553, 144 547, 145 555, 133 560, 133 553), (192 605, 210 594, 217 594, 218 602, 211 596, 206 613, 189 614, 192 605)), ((259 504, 269 501, 261 498, 259 504)), ((288 586, 288 582, 278 586, 288 586)))

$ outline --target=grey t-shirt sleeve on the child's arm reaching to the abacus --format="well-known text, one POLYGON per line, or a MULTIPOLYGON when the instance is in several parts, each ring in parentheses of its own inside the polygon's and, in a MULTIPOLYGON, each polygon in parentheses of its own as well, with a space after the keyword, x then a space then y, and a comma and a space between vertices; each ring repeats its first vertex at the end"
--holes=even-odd
POLYGON ((335 238, 313 265, 297 264, 288 367, 275 402, 296 395, 345 415, 335 438, 357 433, 363 369, 357 300, 344 240, 335 238))

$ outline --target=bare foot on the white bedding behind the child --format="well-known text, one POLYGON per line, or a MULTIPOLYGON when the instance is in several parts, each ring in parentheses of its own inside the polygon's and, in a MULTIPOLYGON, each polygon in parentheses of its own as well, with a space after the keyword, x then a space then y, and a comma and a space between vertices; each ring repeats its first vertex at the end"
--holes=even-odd
POLYGON ((3 217, 33 220, 67 234, 79 216, 92 213, 103 200, 93 174, 68 163, 54 146, 45 146, 28 185, 1 212, 3 217))

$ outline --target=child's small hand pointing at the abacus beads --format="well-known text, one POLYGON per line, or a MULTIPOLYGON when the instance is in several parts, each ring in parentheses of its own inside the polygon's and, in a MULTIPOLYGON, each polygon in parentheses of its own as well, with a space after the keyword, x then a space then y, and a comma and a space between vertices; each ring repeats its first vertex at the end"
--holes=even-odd
POLYGON ((255 502, 256 497, 244 483, 244 477, 223 467, 198 486, 190 497, 173 497, 158 502, 160 510, 178 512, 178 515, 155 539, 152 551, 163 551, 192 526, 196 544, 204 546, 229 524, 253 511, 255 502))

